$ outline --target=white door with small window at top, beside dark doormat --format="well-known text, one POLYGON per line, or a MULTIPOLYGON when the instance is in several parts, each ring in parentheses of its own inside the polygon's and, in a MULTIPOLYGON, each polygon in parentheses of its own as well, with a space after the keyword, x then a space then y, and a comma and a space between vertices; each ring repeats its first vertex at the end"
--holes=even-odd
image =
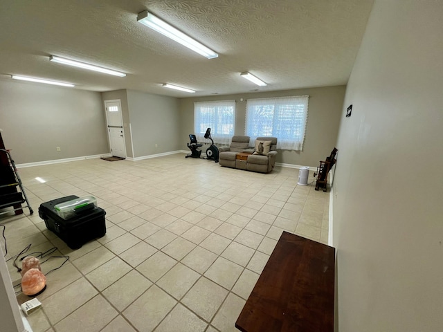
POLYGON ((116 157, 126 158, 125 132, 123 131, 120 100, 105 100, 105 109, 111 154, 116 157))

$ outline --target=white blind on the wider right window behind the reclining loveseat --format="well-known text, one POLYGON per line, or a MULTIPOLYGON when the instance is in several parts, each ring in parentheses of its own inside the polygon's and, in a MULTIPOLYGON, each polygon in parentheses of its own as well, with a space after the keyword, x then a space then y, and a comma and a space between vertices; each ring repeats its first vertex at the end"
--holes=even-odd
POLYGON ((305 140, 309 95, 249 99, 246 103, 246 135, 278 138, 277 149, 300 151, 305 140))

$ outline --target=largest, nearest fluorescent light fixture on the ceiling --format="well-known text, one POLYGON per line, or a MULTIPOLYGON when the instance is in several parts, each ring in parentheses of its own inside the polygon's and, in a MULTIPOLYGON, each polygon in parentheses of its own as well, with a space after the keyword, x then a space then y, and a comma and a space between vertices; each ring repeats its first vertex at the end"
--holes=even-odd
POLYGON ((137 21, 149 28, 152 28, 153 30, 156 30, 156 32, 161 33, 162 35, 175 40, 177 43, 190 48, 194 52, 207 57, 208 59, 213 59, 219 56, 210 48, 207 48, 203 44, 200 44, 199 42, 197 42, 197 40, 185 35, 173 26, 170 26, 168 23, 159 19, 159 17, 152 15, 152 13, 148 12, 147 10, 138 13, 137 21))

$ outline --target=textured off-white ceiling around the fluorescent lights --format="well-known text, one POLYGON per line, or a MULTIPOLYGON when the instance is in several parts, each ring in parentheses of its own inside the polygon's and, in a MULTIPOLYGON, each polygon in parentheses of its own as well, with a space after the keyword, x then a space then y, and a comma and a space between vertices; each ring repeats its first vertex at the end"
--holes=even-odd
MULTIPOLYGON (((0 79, 70 82, 189 97, 346 84, 373 0, 0 0, 0 79), (219 57, 206 59, 136 21, 149 10, 219 57), (49 55, 127 73, 56 64, 49 55), (268 85, 255 86, 249 71, 268 85)), ((69 88, 66 88, 69 89, 69 88)))

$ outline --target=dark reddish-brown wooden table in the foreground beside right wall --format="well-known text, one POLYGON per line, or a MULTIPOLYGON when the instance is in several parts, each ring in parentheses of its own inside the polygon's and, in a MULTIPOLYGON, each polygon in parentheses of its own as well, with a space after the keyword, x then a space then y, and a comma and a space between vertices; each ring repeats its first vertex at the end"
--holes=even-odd
POLYGON ((243 332, 334 331, 335 249, 283 232, 235 327, 243 332))

